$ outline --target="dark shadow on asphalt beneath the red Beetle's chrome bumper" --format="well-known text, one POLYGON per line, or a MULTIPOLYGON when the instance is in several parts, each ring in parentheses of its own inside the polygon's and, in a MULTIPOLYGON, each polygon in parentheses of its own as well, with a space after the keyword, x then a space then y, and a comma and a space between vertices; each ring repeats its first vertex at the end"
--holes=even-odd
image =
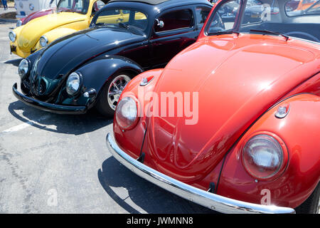
POLYGON ((144 180, 124 167, 114 157, 109 157, 102 163, 102 168, 98 170, 97 176, 107 195, 132 214, 142 213, 130 205, 132 202, 150 214, 218 213, 189 202, 144 180), (117 192, 114 192, 114 188, 117 192), (132 202, 127 199, 128 197, 132 202))

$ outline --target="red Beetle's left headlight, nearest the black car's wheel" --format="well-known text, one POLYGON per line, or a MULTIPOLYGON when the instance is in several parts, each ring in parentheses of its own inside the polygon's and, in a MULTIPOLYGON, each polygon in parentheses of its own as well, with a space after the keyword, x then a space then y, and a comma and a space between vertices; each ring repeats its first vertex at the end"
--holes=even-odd
POLYGON ((124 130, 134 128, 139 120, 138 101, 131 97, 122 98, 117 104, 115 115, 120 128, 124 130))

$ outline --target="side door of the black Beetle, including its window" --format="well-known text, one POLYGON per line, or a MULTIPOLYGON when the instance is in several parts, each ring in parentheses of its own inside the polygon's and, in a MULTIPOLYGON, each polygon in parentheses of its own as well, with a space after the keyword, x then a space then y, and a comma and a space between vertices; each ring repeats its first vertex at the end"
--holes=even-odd
POLYGON ((193 6, 161 12, 154 21, 150 38, 152 67, 165 66, 177 53, 198 37, 193 6))

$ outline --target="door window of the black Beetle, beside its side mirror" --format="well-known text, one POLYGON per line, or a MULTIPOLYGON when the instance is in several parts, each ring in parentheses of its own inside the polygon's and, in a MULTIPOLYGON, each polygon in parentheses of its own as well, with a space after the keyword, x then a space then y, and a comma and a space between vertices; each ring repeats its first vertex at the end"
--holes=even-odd
POLYGON ((190 9, 170 11, 159 16, 159 21, 164 22, 164 26, 155 26, 156 32, 171 31, 181 28, 191 28, 193 26, 193 14, 190 9))

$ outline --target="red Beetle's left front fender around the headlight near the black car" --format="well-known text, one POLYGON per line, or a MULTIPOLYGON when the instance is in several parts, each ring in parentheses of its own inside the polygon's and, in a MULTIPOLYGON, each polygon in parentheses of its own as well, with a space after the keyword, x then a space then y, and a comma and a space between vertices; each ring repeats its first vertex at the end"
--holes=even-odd
POLYGON ((117 123, 116 115, 114 115, 114 138, 118 142, 119 147, 134 158, 139 157, 142 142, 144 140, 144 132, 146 130, 146 116, 143 115, 142 109, 150 101, 146 100, 145 96, 139 95, 139 92, 142 93, 143 91, 144 94, 147 94, 149 91, 152 91, 162 71, 163 69, 154 69, 139 74, 127 84, 126 88, 124 88, 122 95, 119 98, 120 101, 122 98, 126 96, 134 96, 135 98, 137 98, 139 103, 139 113, 142 113, 138 120, 137 126, 135 128, 132 128, 131 130, 122 130, 122 128, 120 128, 117 123), (142 78, 149 78, 151 76, 154 76, 154 78, 150 81, 148 85, 139 86, 142 82, 142 78))

